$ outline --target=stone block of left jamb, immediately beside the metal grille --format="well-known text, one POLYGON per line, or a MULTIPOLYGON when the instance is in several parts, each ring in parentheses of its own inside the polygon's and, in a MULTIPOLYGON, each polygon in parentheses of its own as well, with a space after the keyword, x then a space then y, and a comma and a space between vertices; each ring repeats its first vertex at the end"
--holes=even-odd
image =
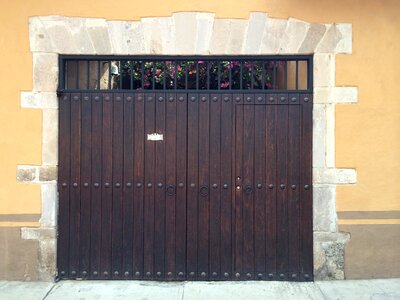
POLYGON ((33 90, 56 92, 58 84, 58 55, 52 53, 33 54, 33 90))

